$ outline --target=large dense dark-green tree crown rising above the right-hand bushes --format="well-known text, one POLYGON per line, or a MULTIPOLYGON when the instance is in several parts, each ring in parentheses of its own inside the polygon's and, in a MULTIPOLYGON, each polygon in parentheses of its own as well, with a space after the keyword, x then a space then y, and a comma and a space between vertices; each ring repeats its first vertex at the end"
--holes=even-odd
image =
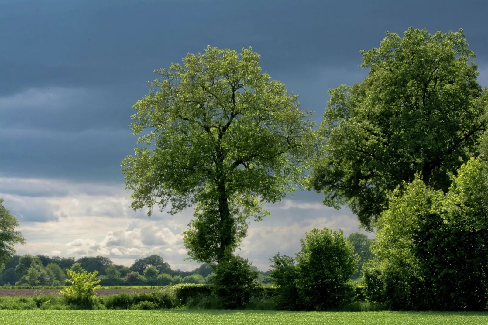
POLYGON ((488 92, 463 30, 404 34, 386 32, 379 48, 361 51, 364 81, 329 90, 311 173, 324 203, 348 204, 367 229, 386 208, 386 192, 417 172, 447 191, 449 173, 477 154, 486 130, 488 92))

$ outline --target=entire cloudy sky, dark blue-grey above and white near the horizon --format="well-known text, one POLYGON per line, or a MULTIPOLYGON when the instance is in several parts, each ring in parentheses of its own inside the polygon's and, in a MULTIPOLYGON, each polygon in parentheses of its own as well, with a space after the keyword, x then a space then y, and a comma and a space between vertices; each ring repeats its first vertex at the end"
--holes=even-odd
MULTIPOLYGON (((131 106, 155 69, 207 45, 251 46, 320 123, 327 90, 366 77, 359 51, 385 31, 463 28, 488 86, 487 12, 484 0, 0 0, 0 197, 26 240, 17 253, 124 265, 158 254, 173 268, 198 266, 183 261, 193 210, 147 217, 124 189, 131 106)), ((262 270, 276 253, 298 252, 313 227, 358 231, 350 210, 315 192, 266 207, 238 251, 262 270)))

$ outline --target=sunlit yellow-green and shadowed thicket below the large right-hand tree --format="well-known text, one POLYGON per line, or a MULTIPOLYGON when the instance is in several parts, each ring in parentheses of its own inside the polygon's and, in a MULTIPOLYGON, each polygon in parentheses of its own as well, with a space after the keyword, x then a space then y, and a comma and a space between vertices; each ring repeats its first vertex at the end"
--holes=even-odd
POLYGON ((447 194, 417 177, 377 223, 366 296, 391 309, 485 310, 488 163, 470 159, 447 194))

